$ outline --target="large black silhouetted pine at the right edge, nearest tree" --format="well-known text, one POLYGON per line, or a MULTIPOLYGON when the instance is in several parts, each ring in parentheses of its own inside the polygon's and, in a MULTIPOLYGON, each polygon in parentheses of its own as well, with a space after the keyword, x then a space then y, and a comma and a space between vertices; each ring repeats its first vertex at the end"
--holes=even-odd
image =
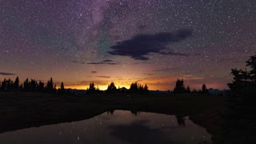
POLYGON ((246 61, 250 70, 231 69, 233 82, 230 87, 230 101, 224 117, 222 143, 255 143, 255 100, 256 100, 256 54, 246 61))

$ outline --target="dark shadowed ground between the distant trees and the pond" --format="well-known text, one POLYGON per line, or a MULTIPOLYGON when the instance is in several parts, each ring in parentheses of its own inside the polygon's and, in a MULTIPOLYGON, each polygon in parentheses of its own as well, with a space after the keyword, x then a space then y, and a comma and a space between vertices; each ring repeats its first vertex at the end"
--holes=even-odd
POLYGON ((226 132, 224 126, 226 113, 229 111, 227 106, 226 98, 204 94, 73 96, 1 92, 0 133, 32 126, 74 122, 92 118, 107 110, 134 110, 190 116, 190 120, 213 134, 214 143, 231 143, 231 140, 227 142, 223 134, 226 132))

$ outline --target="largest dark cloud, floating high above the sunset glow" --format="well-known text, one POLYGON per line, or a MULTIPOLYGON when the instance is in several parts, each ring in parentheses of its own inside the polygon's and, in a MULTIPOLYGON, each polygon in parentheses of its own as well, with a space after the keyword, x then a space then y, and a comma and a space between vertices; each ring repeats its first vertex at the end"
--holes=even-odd
POLYGON ((108 53, 129 56, 144 61, 149 60, 147 56, 150 53, 186 56, 187 54, 170 51, 167 46, 173 42, 180 42, 188 38, 191 34, 191 30, 178 30, 174 34, 170 32, 139 34, 129 40, 117 42, 116 45, 110 47, 111 51, 108 53))

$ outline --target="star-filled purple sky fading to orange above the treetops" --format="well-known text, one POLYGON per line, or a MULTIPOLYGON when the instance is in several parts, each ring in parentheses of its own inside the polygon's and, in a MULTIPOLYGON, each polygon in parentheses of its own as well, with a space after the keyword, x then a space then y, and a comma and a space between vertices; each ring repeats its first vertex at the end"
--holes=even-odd
POLYGON ((226 89, 255 31, 255 0, 0 0, 0 80, 226 89))

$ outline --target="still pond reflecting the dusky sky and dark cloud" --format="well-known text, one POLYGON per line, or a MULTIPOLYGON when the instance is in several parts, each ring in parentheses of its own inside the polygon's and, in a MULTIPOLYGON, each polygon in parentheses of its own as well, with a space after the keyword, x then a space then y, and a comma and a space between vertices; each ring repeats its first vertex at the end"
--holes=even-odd
POLYGON ((196 143, 211 135, 188 117, 114 110, 78 122, 0 134, 1 144, 196 143))

